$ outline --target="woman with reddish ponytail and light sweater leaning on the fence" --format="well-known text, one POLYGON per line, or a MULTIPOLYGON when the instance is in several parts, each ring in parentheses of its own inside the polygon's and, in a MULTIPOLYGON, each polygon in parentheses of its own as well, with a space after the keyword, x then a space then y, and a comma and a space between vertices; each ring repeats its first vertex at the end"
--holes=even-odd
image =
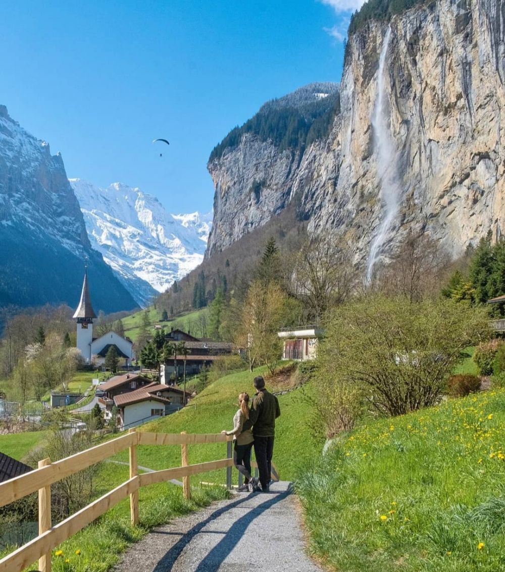
POLYGON ((251 449, 254 437, 251 431, 252 424, 249 421, 248 403, 248 394, 241 393, 239 395, 240 408, 233 418, 232 431, 221 431, 224 435, 233 435, 233 463, 236 469, 244 475, 244 484, 239 487, 239 491, 248 491, 249 483, 253 491, 258 490, 258 479, 251 476, 251 449))

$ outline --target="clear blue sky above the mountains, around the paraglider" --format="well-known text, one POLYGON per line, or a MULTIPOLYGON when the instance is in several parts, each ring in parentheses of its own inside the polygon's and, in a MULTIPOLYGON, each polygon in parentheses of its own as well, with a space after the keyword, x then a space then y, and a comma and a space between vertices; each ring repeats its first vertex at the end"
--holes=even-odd
POLYGON ((69 177, 207 211, 214 145, 265 101, 340 81, 360 3, 3 0, 0 104, 61 151, 69 177))

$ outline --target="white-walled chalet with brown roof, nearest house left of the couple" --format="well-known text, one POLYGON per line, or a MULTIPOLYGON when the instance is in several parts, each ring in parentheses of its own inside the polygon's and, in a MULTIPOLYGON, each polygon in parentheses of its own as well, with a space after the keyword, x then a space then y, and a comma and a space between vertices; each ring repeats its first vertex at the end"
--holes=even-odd
MULTIPOLYGON (((186 401, 189 395, 186 392, 186 401)), ((124 430, 178 411, 184 407, 184 391, 178 387, 152 383, 138 390, 116 395, 113 401, 118 412, 117 425, 124 430)))

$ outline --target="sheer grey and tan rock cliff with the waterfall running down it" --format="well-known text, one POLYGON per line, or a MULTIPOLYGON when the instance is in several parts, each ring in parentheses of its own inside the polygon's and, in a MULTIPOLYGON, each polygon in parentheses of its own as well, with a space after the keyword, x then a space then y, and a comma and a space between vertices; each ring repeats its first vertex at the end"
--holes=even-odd
POLYGON ((340 113, 300 156, 246 134, 208 168, 208 253, 295 201, 369 271, 409 228, 457 255, 505 223, 505 0, 438 0, 349 38, 340 113), (255 181, 265 181, 253 196, 255 181))

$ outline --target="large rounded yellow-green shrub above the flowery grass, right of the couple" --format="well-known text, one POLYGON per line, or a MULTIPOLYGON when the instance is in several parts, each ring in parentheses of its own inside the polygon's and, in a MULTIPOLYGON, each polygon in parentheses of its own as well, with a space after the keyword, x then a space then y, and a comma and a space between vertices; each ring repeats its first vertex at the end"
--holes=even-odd
POLYGON ((488 333, 482 308, 451 300, 369 296, 338 306, 313 378, 318 407, 333 411, 333 422, 321 415, 328 436, 352 425, 360 400, 377 415, 402 415, 439 402, 461 350, 488 333))

